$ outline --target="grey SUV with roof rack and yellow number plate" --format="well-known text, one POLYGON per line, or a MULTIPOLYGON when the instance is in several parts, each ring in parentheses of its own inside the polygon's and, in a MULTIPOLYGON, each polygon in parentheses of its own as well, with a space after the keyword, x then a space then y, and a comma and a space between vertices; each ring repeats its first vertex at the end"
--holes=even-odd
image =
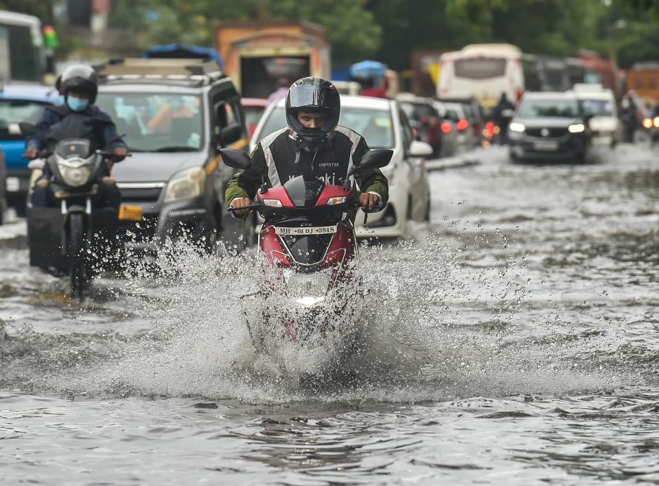
POLYGON ((216 62, 125 59, 97 71, 97 104, 132 152, 112 171, 126 246, 151 251, 186 237, 210 250, 220 237, 251 238, 224 207, 235 171, 220 163, 218 150, 246 149, 248 139, 240 95, 216 62))

